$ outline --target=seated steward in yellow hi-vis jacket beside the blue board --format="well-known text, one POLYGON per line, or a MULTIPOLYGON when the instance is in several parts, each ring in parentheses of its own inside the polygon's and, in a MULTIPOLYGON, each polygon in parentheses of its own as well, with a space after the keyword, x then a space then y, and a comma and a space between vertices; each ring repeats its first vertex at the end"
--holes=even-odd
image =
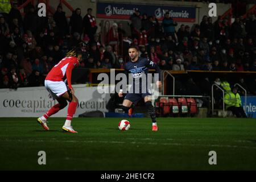
POLYGON ((232 111, 238 118, 247 118, 243 107, 241 106, 240 94, 237 93, 237 88, 234 86, 232 91, 226 92, 224 97, 226 109, 232 111))

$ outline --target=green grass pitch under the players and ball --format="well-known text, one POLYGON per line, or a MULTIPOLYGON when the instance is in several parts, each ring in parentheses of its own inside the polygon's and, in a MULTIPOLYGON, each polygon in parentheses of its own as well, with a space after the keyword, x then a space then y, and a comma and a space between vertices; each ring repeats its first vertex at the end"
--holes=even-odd
POLYGON ((256 120, 237 118, 74 118, 79 133, 63 133, 65 118, 0 118, 1 170, 255 170, 256 120), (38 152, 46 152, 46 165, 38 152), (216 151, 217 165, 209 165, 216 151))

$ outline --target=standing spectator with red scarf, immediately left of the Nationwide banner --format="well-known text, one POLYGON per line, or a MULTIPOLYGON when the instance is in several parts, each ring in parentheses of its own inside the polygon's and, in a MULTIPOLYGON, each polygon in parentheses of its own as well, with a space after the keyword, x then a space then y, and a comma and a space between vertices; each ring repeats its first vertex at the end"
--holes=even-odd
POLYGON ((82 24, 84 27, 84 34, 87 34, 90 39, 93 39, 93 35, 96 34, 97 31, 97 25, 96 25, 96 19, 92 15, 92 9, 87 9, 87 14, 82 19, 82 24))

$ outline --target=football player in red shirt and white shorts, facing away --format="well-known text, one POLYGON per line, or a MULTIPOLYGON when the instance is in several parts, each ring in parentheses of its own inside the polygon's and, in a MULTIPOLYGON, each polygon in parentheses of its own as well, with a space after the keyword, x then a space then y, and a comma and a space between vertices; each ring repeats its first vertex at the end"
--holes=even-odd
POLYGON ((78 100, 75 96, 75 90, 71 85, 71 73, 73 68, 78 67, 81 60, 81 53, 69 51, 67 53, 67 57, 64 57, 58 64, 56 64, 46 76, 44 85, 48 92, 51 93, 53 100, 56 99, 59 104, 52 106, 46 114, 38 118, 38 123, 45 130, 49 130, 49 127, 47 126, 47 119, 52 114, 57 113, 57 111, 67 106, 67 101, 69 101, 67 119, 62 129, 63 131, 70 133, 77 133, 77 131, 75 131, 71 126, 71 120, 76 112, 78 104, 78 100), (64 82, 65 78, 67 78, 68 88, 64 82))

